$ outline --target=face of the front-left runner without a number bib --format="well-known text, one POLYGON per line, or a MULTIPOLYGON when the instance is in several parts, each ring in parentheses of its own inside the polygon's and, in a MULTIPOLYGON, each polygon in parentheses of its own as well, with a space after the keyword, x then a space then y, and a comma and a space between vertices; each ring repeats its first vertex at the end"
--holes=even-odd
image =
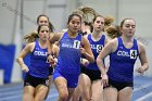
POLYGON ((40 30, 39 30, 39 38, 42 41, 47 41, 49 39, 49 27, 48 26, 41 26, 40 30))

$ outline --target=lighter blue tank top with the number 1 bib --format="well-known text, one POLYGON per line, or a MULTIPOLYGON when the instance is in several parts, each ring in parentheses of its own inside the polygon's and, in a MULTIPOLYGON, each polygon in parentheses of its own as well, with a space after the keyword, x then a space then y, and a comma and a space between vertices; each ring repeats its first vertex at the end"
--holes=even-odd
POLYGON ((76 38, 69 38, 67 31, 64 33, 63 37, 60 40, 60 52, 56 64, 56 70, 59 70, 60 73, 80 73, 80 34, 78 34, 76 38))

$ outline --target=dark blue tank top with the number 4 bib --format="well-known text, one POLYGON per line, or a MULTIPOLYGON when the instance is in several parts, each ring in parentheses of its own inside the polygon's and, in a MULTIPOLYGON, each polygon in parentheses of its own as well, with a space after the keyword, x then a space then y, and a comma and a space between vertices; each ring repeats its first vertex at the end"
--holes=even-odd
POLYGON ((139 55, 137 40, 130 49, 123 45, 121 37, 117 38, 118 47, 115 52, 110 54, 109 78, 115 81, 132 81, 134 65, 139 55))

